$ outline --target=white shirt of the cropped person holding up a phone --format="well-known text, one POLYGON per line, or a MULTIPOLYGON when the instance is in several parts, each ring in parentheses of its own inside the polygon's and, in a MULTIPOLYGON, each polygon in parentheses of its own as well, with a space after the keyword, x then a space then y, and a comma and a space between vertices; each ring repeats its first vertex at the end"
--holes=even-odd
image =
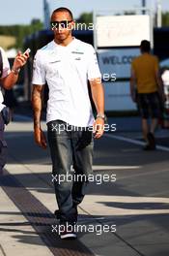
MULTIPOLYGON (((4 79, 4 78, 6 78, 11 73, 11 69, 10 69, 9 60, 7 58, 7 55, 6 55, 5 51, 4 51, 4 49, 0 48, 0 50, 1 50, 2 62, 3 62, 3 71, 2 71, 1 79, 4 79)), ((4 101, 4 97, 3 97, 2 91, 0 90, 0 112, 5 107, 5 105, 2 104, 3 101, 4 101)))

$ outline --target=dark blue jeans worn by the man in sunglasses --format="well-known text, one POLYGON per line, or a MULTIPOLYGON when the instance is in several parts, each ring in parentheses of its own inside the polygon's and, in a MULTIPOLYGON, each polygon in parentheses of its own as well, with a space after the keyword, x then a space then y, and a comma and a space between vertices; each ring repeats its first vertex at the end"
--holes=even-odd
MULTIPOLYGON (((47 137, 52 159, 53 176, 72 175, 71 165, 74 169, 74 177, 93 174, 93 133, 91 131, 77 131, 71 129, 61 120, 47 123, 47 137), (67 126, 67 127, 66 127, 67 126), (62 131, 59 131, 62 127, 62 131)), ((76 127, 77 128, 77 127, 76 127)), ((63 179, 62 179, 63 180, 63 179)), ((54 179, 56 200, 60 211, 61 222, 76 222, 77 205, 85 196, 87 180, 65 180, 59 182, 54 179)))

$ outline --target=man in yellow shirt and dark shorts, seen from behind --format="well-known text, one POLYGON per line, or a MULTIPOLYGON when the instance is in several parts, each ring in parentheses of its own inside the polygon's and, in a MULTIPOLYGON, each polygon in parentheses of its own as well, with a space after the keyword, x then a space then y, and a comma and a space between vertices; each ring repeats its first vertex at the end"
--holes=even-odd
POLYGON ((160 117, 159 99, 163 98, 162 84, 157 58, 150 53, 150 42, 143 40, 140 50, 141 55, 131 63, 130 94, 132 100, 137 101, 142 117, 143 138, 146 142, 144 150, 155 150, 155 128, 160 117), (149 127, 150 117, 152 120, 149 127))

